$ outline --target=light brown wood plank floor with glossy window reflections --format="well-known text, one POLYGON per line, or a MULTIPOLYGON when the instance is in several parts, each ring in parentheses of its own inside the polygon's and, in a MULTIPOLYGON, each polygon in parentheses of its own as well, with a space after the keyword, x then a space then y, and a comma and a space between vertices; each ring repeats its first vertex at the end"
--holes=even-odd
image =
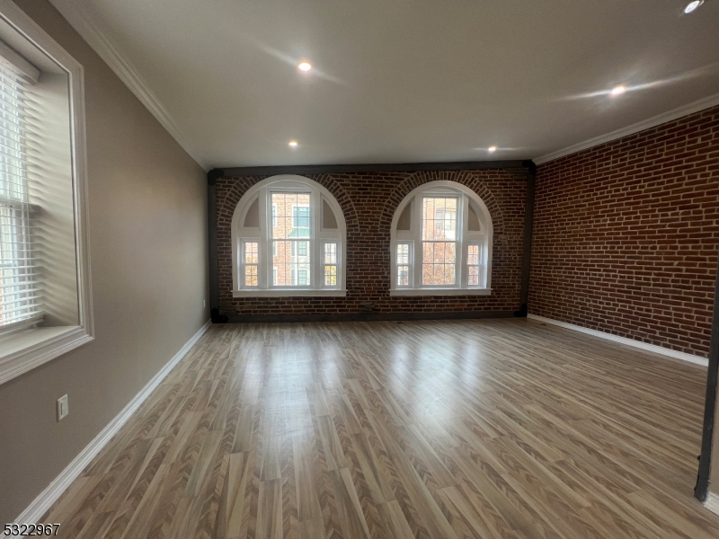
POLYGON ((526 319, 215 325, 65 537, 688 537, 706 370, 526 319))

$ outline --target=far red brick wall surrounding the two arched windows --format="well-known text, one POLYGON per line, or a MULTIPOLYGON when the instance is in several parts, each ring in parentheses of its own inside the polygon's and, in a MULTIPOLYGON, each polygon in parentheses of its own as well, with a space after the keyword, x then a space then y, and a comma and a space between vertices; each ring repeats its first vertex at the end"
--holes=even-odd
POLYGON ((339 202, 347 223, 347 296, 233 298, 230 225, 237 202, 265 177, 217 181, 217 243, 221 314, 514 311, 519 309, 527 182, 503 171, 308 174, 339 202), (390 225, 395 208, 427 181, 458 181, 484 200, 493 219, 491 296, 389 296, 390 225))

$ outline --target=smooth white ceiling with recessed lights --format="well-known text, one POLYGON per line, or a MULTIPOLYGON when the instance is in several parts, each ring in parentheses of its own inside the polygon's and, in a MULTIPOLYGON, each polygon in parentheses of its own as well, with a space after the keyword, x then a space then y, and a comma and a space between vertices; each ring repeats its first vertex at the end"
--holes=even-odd
POLYGON ((206 168, 537 158, 719 103, 719 0, 51 1, 206 168))

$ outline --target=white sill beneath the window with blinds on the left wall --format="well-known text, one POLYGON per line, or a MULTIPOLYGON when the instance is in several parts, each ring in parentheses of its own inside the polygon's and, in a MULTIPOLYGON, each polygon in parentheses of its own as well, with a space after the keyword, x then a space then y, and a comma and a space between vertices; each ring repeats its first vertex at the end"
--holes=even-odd
POLYGON ((32 328, 0 337, 0 384, 93 340, 81 326, 32 328))

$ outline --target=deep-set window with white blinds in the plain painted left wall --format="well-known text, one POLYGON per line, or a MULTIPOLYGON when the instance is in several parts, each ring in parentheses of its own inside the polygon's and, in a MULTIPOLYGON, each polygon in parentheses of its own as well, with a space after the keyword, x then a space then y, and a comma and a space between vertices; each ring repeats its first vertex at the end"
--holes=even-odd
POLYGON ((83 67, 0 2, 0 384, 93 339, 83 67))

